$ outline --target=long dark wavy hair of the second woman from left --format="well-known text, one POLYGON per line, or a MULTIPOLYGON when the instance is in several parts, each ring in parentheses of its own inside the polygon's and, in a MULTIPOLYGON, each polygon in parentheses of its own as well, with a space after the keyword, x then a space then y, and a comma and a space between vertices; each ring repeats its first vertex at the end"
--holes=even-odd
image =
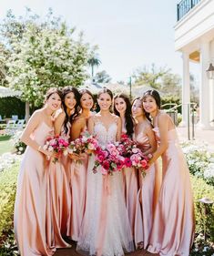
POLYGON ((80 94, 79 94, 78 90, 76 89, 76 87, 70 87, 70 86, 64 87, 64 88, 62 89, 62 94, 63 94, 62 106, 63 106, 64 111, 65 111, 65 113, 66 113, 66 118, 65 118, 65 120, 64 120, 63 126, 64 126, 64 128, 65 128, 66 133, 67 133, 67 132, 68 132, 68 128, 67 128, 67 126, 66 126, 67 123, 70 122, 70 124, 72 124, 73 121, 74 121, 74 119, 76 118, 76 116, 77 116, 78 113, 79 113, 80 94), (65 98, 66 98, 66 95, 67 95, 68 93, 71 93, 71 92, 72 92, 72 93, 74 94, 74 96, 75 96, 76 105, 75 105, 75 111, 74 111, 74 113, 73 113, 71 116, 68 116, 68 114, 67 114, 67 112, 66 112, 65 98))

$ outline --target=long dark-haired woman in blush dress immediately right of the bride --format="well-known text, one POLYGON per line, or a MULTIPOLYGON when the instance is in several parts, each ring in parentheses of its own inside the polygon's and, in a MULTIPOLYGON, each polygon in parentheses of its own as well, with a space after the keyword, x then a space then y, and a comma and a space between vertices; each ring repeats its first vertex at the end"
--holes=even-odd
MULTIPOLYGON (((131 117, 131 103, 125 94, 121 93, 114 97, 114 113, 121 118, 122 133, 127 134, 129 138, 133 138, 134 120, 131 117)), ((138 194, 138 176, 136 169, 123 169, 123 178, 128 219, 134 240, 135 214, 138 194)))

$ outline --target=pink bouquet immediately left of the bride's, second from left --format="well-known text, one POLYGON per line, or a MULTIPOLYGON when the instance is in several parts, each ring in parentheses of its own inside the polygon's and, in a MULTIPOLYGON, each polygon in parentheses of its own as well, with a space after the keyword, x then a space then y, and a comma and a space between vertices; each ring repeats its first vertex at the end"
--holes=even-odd
POLYGON ((83 132, 79 138, 71 141, 68 147, 69 154, 80 155, 87 153, 91 155, 98 147, 97 139, 89 134, 88 131, 83 132))

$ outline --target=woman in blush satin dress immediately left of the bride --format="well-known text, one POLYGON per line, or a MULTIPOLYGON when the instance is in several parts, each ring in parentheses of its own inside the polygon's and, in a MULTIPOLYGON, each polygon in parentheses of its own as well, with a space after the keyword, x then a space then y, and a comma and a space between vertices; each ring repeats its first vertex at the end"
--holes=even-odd
MULTIPOLYGON (((87 129, 87 119, 92 116, 90 111, 93 108, 93 95, 87 89, 80 91, 81 113, 74 119, 71 126, 71 140, 80 137, 80 134, 87 129)), ((87 196, 87 156, 81 158, 81 163, 73 161, 71 165, 71 230, 69 236, 73 241, 78 241, 80 227, 86 208, 87 196)))

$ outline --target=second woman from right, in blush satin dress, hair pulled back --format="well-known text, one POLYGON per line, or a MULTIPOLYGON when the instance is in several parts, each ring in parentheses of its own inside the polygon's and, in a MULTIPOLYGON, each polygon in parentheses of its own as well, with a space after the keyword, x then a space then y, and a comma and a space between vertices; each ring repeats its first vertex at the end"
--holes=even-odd
MULTIPOLYGON (((137 97, 132 104, 132 115, 136 119, 135 140, 142 152, 149 157, 157 148, 154 132, 151 124, 145 116, 140 97, 137 97)), ((139 190, 137 210, 135 216, 135 242, 139 249, 148 247, 149 236, 152 229, 154 206, 156 201, 156 171, 155 165, 147 170, 145 178, 139 172, 139 190)))

